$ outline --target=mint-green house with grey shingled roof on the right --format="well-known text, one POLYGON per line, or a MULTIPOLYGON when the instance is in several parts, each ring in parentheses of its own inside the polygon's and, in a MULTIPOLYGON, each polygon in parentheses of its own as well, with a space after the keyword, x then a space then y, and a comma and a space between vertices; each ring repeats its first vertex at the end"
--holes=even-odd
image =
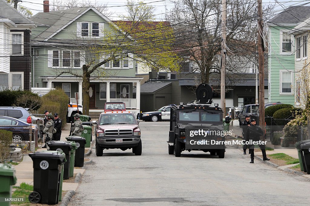
MULTIPOLYGON (((308 19, 310 6, 291 6, 268 21, 268 101, 280 101, 294 105, 296 82, 295 72, 307 58, 302 51, 304 35, 294 38, 292 30, 308 19), (297 42, 296 42, 297 41, 297 42)), ((306 47, 304 47, 306 48, 306 47)))

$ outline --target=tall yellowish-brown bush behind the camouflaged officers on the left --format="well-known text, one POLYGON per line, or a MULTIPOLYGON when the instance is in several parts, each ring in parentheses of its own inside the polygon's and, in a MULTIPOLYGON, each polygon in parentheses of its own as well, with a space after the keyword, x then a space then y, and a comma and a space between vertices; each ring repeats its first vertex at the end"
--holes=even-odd
MULTIPOLYGON (((64 90, 57 88, 51 90, 46 95, 42 96, 42 106, 38 110, 40 114, 43 114, 45 110, 48 110, 51 114, 58 113, 60 119, 66 122, 69 96, 64 93, 64 90)), ((62 124, 64 127, 65 124, 62 124)))

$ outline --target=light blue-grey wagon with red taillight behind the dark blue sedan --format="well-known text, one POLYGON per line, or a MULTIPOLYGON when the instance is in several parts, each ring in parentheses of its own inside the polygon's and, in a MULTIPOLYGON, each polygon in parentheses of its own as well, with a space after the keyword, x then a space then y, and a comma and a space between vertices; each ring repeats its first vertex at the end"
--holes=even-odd
POLYGON ((32 123, 29 112, 23 107, 0 107, 0 116, 14 117, 23 122, 32 123))

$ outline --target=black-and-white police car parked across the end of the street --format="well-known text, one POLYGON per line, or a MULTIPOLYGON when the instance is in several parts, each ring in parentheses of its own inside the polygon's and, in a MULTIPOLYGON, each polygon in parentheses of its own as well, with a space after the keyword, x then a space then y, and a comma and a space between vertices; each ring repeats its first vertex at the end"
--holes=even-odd
POLYGON ((142 113, 142 116, 140 114, 140 119, 144 120, 146 122, 152 121, 162 121, 162 120, 170 120, 170 109, 173 107, 173 105, 163 106, 157 111, 154 112, 144 112, 142 113))

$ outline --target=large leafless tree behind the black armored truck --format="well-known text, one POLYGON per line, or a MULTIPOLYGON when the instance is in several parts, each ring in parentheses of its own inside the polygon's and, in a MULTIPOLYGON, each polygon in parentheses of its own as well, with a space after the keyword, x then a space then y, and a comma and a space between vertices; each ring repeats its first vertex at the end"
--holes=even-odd
MULTIPOLYGON (((211 73, 220 72, 221 6, 220 0, 172 0, 175 7, 166 20, 175 29, 175 46, 183 61, 194 62, 194 71, 201 74, 201 82, 209 83, 211 73)), ((257 38, 256 2, 227 0, 226 69, 238 73, 244 63, 255 59, 257 38), (229 58, 231 56, 231 58, 229 58), (246 58, 245 58, 246 57, 246 58)), ((272 7, 265 8, 270 12, 272 7)))

